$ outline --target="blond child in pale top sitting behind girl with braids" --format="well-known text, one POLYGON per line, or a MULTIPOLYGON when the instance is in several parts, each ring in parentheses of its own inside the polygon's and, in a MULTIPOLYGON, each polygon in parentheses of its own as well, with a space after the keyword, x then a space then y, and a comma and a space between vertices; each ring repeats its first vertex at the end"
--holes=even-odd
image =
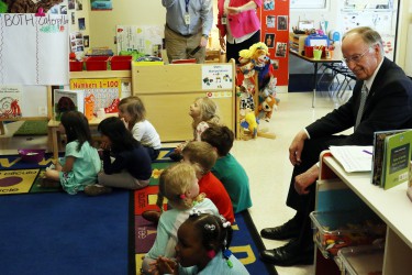
POLYGON ((142 271, 148 273, 149 264, 160 255, 175 256, 177 230, 196 208, 211 215, 219 216, 213 202, 199 194, 198 178, 193 165, 178 163, 167 167, 159 177, 159 193, 157 206, 163 209, 164 197, 168 199, 171 209, 163 212, 157 224, 157 235, 154 245, 143 260, 142 271))

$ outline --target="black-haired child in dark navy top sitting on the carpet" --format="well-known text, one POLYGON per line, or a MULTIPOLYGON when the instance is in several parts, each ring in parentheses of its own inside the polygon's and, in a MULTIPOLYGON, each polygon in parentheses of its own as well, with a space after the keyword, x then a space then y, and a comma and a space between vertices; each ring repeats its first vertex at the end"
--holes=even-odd
POLYGON ((146 187, 152 176, 151 157, 122 120, 107 118, 99 123, 98 131, 103 148, 103 172, 99 173, 99 184, 87 186, 85 193, 98 196, 110 193, 112 187, 132 190, 146 187))

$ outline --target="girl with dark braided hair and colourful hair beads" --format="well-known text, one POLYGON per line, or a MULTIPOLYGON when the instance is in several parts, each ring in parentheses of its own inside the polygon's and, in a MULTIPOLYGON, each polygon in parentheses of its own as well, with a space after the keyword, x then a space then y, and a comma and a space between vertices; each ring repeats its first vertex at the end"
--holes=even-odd
POLYGON ((176 262, 158 257, 157 274, 249 274, 232 254, 232 227, 223 217, 192 211, 179 228, 176 262))

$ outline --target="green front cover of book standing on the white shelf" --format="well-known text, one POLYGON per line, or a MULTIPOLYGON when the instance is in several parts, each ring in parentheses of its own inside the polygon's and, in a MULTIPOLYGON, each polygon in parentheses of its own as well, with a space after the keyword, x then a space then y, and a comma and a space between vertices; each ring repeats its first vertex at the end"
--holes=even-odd
POLYGON ((409 182, 412 130, 385 139, 383 170, 381 183, 387 190, 409 182))

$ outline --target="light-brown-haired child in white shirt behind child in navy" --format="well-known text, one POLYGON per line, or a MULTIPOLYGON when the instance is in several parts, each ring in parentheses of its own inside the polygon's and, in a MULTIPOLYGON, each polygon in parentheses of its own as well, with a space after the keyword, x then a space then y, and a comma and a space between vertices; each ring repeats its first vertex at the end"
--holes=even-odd
POLYGON ((162 148, 160 136, 152 123, 146 120, 146 109, 142 100, 136 96, 120 100, 119 118, 124 121, 133 138, 145 146, 152 161, 155 161, 162 148))

